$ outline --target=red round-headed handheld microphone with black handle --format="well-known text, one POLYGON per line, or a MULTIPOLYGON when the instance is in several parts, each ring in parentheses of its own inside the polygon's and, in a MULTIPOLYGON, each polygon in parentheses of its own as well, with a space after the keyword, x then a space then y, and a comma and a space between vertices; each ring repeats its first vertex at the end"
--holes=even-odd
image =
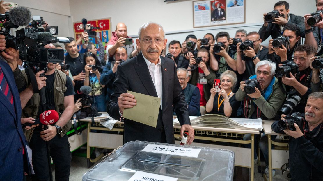
POLYGON ((44 111, 39 115, 39 118, 35 119, 34 121, 34 123, 22 124, 22 128, 24 129, 26 126, 32 126, 40 123, 43 125, 54 124, 58 121, 58 112, 56 110, 44 111))

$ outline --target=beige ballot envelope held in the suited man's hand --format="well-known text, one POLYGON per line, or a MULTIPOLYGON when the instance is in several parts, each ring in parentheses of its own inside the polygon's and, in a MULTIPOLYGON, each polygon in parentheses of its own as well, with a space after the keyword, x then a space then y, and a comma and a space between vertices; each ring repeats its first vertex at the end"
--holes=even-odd
POLYGON ((122 117, 156 128, 161 98, 127 91, 135 96, 137 105, 123 110, 122 117))

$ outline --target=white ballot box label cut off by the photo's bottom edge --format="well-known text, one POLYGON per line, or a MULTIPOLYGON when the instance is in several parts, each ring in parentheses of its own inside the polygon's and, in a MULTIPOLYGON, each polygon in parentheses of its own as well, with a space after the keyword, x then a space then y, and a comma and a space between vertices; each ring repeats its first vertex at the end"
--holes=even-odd
POLYGON ((128 181, 177 181, 177 178, 137 171, 128 181))

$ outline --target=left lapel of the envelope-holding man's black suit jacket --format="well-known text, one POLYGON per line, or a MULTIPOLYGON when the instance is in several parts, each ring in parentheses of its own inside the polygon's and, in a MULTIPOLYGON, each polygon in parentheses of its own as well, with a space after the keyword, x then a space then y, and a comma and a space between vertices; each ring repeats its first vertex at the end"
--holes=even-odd
POLYGON ((135 67, 135 70, 136 70, 142 84, 144 85, 144 87, 148 91, 149 95, 154 96, 154 97, 158 97, 154 83, 152 82, 151 75, 149 73, 147 64, 146 64, 145 60, 143 59, 141 52, 136 57, 136 64, 134 64, 133 66, 135 67))

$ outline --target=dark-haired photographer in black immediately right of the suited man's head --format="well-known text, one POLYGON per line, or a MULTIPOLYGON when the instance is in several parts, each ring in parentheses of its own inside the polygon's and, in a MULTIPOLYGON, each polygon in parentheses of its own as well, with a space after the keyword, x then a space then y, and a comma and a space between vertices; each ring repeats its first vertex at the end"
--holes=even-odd
MULTIPOLYGON (((168 44, 168 51, 169 54, 166 55, 166 57, 171 58, 173 61, 175 61, 176 68, 185 68, 188 67, 188 60, 185 59, 181 53, 181 43, 177 40, 173 40, 168 44)), ((164 56, 164 55, 162 55, 164 56)))

